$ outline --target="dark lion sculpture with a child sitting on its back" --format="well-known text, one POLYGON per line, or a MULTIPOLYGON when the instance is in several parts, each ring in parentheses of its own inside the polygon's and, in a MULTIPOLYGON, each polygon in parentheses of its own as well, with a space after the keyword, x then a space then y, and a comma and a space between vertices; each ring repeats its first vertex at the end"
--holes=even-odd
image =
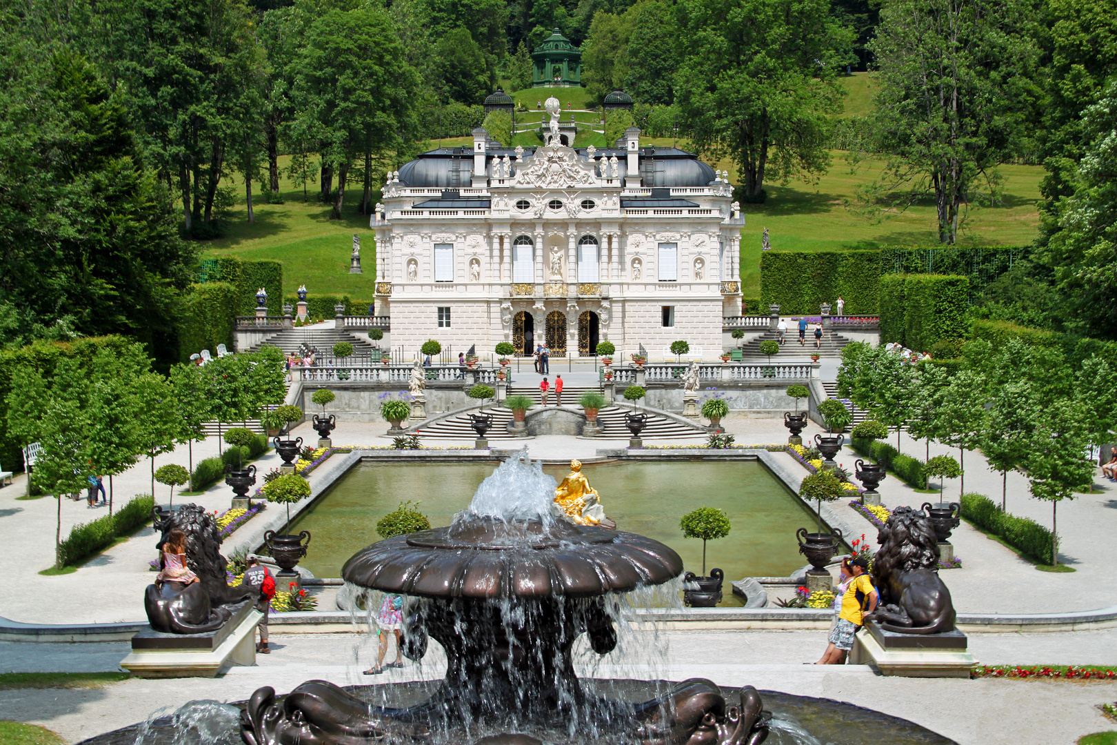
POLYGON ((213 516, 200 506, 187 504, 176 512, 154 510, 155 529, 159 532, 160 562, 168 534, 179 528, 187 534, 187 565, 198 575, 199 582, 182 585, 164 582, 162 586, 147 585, 144 610, 155 631, 164 633, 203 633, 216 631, 232 613, 227 605, 252 596, 248 588, 230 588, 226 567, 228 562, 218 551, 221 533, 213 516))

